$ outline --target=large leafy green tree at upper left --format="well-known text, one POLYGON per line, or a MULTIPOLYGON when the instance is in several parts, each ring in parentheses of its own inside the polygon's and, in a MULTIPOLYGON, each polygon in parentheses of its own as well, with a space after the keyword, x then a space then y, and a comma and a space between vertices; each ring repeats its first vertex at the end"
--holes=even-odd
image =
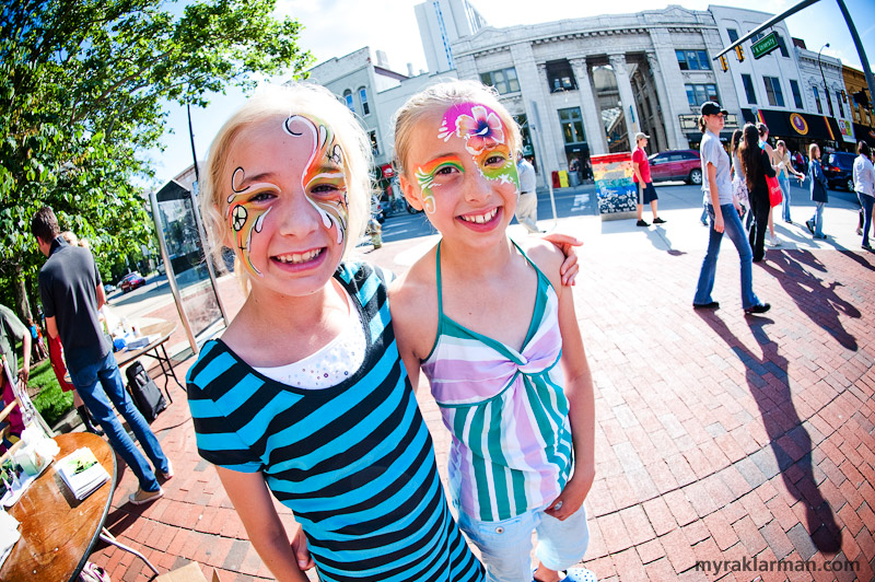
POLYGON ((273 0, 11 0, 0 9, 0 281, 31 315, 43 263, 30 234, 51 207, 95 254, 149 245, 141 187, 165 102, 206 106, 229 85, 301 77, 301 25, 273 0))

